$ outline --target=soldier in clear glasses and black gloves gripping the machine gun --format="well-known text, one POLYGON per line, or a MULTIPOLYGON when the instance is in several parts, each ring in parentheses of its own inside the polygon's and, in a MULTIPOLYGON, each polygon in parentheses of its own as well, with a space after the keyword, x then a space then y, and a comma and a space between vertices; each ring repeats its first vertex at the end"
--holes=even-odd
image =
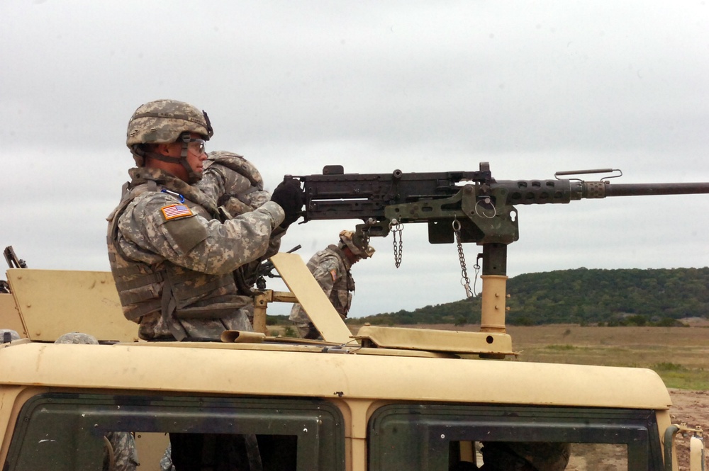
POLYGON ((212 135, 206 113, 180 101, 145 103, 128 123, 138 166, 108 216, 108 258, 123 314, 140 324, 141 339, 218 340, 225 329, 252 330, 251 298, 232 273, 267 254, 274 233, 298 218, 300 186, 292 181, 222 222, 221 190, 210 185, 225 184, 223 174, 194 184, 212 135))

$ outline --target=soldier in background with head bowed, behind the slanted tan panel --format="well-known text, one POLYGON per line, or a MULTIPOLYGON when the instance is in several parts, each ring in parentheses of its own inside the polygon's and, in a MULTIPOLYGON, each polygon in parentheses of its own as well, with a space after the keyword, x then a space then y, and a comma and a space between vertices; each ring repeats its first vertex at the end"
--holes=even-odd
MULTIPOLYGON (((340 232, 340 242, 337 245, 329 245, 308 261, 308 269, 318 280, 342 319, 345 319, 350 311, 354 293, 354 279, 350 268, 354 263, 369 259, 373 254, 374 247, 354 237, 354 232, 345 230, 340 232)), ((301 305, 293 305, 289 320, 296 324, 303 339, 317 339, 320 336, 301 305)))

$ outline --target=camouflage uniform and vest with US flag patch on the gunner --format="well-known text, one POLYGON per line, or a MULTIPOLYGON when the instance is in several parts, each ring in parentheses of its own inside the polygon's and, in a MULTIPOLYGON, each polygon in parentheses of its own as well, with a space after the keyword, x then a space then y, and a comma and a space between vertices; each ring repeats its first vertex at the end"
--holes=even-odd
POLYGON ((196 186, 160 169, 129 173, 108 217, 108 253, 123 314, 140 323, 140 338, 217 340, 225 329, 251 330, 242 310, 251 300, 232 272, 266 254, 280 206, 267 202, 222 223, 196 186))

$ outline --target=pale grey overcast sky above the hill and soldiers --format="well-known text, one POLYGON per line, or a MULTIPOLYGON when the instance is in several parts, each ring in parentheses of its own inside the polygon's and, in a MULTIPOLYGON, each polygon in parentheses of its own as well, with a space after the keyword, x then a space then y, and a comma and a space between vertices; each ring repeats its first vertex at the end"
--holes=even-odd
MULTIPOLYGON (((269 189, 326 164, 480 161, 503 180, 709 181, 705 0, 3 0, 0 17, 0 244, 30 268, 108 270, 125 128, 158 98, 206 110, 208 150, 244 154, 269 189)), ((709 195, 518 210, 509 276, 709 265, 709 195)), ((307 260, 356 223, 293 226, 283 248, 307 260)), ((372 244, 351 315, 464 297, 455 246, 428 245, 425 226, 404 229, 401 268, 391 235, 372 244)), ((478 251, 464 247, 469 267, 478 251)))

